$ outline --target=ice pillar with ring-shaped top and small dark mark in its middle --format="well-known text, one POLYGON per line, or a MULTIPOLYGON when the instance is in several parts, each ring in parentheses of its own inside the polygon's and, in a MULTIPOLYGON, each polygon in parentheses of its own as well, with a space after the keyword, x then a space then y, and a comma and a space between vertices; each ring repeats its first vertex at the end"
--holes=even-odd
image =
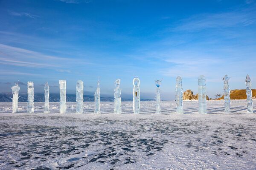
POLYGON ((133 109, 134 109, 134 114, 138 114, 140 112, 140 79, 137 77, 134 78, 133 85, 134 85, 133 109))

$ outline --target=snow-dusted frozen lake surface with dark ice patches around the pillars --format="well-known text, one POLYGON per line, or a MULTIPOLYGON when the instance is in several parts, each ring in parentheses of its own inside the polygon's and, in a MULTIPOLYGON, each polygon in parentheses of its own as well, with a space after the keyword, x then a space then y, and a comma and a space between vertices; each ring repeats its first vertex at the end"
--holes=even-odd
POLYGON ((207 101, 207 113, 198 114, 198 101, 183 101, 183 115, 174 101, 141 102, 134 115, 132 102, 122 102, 122 113, 113 114, 113 102, 84 102, 84 113, 75 114, 76 103, 0 103, 0 169, 256 169, 256 100, 254 113, 246 113, 246 100, 232 100, 230 114, 224 101, 207 101))

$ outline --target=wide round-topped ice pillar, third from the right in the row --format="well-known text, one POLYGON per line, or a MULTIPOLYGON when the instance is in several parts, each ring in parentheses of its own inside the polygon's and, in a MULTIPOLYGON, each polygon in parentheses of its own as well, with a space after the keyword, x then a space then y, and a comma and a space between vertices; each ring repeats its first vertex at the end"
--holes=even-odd
POLYGON ((203 75, 198 77, 198 105, 198 113, 206 114, 206 80, 203 75))

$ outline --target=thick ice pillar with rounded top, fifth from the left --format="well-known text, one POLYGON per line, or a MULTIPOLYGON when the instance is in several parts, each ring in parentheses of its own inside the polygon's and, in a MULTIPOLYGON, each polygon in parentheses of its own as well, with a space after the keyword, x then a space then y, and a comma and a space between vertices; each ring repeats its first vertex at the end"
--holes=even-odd
POLYGON ((84 82, 76 82, 76 113, 84 112, 84 82))

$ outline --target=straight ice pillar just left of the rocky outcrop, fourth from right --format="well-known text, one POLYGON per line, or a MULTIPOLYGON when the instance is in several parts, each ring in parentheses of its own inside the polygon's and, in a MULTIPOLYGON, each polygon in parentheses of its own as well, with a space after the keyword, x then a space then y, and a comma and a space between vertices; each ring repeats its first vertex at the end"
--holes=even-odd
POLYGON ((183 88, 182 79, 180 76, 176 78, 176 112, 178 114, 183 114, 183 88))

